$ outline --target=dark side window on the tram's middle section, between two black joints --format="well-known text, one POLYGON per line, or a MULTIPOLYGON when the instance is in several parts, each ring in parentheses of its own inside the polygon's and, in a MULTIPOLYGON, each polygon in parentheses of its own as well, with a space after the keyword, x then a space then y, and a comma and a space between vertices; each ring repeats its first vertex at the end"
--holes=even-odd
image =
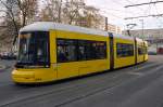
POLYGON ((134 45, 127 43, 116 43, 117 57, 126 57, 134 55, 134 45))

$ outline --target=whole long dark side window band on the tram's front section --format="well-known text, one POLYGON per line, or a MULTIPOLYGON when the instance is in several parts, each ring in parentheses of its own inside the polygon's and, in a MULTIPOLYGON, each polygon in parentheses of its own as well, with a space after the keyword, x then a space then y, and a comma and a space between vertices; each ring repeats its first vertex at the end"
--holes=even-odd
POLYGON ((58 39, 58 63, 106 58, 106 42, 58 39))

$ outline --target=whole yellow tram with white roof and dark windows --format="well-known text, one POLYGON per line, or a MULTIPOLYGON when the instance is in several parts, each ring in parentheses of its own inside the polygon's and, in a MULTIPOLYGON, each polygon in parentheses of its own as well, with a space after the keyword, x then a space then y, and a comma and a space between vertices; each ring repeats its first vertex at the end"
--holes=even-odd
POLYGON ((15 83, 42 83, 85 76, 148 59, 146 41, 51 22, 20 30, 15 83))

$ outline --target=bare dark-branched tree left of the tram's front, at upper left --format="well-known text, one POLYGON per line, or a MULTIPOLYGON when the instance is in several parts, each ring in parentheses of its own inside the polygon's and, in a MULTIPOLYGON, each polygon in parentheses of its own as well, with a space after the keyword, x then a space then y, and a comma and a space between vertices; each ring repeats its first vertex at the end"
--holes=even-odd
POLYGON ((1 12, 5 13, 7 29, 13 30, 8 34, 13 36, 15 43, 20 28, 36 15, 37 0, 0 0, 0 4, 3 6, 1 12))

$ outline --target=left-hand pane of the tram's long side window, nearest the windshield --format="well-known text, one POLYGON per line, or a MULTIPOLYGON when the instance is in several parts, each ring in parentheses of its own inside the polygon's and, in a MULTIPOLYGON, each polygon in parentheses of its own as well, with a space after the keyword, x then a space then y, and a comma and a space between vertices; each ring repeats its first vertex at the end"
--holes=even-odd
POLYGON ((58 63, 77 61, 76 41, 68 39, 58 39, 58 63))

